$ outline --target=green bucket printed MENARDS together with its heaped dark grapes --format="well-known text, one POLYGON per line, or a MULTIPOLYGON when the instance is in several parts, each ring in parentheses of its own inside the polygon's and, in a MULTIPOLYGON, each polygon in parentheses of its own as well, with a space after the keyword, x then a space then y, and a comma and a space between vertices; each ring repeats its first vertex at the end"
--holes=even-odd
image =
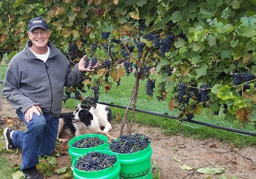
POLYGON ((121 135, 108 149, 117 154, 121 164, 120 178, 152 179, 149 137, 143 134, 121 135))

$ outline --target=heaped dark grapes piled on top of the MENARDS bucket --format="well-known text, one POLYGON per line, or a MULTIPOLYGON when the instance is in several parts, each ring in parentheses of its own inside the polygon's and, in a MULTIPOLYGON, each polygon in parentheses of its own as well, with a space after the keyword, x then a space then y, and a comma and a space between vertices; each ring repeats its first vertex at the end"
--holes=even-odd
POLYGON ((134 153, 146 149, 150 143, 149 137, 143 134, 124 134, 112 141, 109 149, 115 153, 134 153))

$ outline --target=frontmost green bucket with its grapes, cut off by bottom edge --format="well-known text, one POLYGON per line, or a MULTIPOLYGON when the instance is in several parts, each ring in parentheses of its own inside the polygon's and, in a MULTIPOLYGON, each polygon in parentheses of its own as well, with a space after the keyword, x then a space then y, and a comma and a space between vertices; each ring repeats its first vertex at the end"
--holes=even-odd
POLYGON ((121 166, 116 153, 108 150, 87 152, 74 159, 75 179, 119 179, 121 166))

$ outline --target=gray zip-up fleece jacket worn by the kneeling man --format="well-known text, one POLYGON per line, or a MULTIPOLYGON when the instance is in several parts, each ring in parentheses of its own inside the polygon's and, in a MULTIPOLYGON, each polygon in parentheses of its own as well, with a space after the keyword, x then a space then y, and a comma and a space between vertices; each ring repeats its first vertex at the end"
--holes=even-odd
POLYGON ((76 64, 71 70, 70 62, 52 42, 49 57, 44 63, 29 49, 31 41, 11 60, 3 85, 3 94, 10 104, 25 113, 38 104, 43 112, 55 117, 61 113, 64 86, 78 84, 84 73, 76 64))

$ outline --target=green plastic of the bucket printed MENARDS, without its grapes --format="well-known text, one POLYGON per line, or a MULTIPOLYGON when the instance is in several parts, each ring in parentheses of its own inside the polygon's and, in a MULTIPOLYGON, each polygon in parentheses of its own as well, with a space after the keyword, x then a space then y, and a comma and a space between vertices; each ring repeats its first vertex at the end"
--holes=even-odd
MULTIPOLYGON (((108 147, 108 150, 111 151, 108 147)), ((139 152, 116 153, 121 164, 120 178, 152 179, 151 166, 151 144, 139 152)))

